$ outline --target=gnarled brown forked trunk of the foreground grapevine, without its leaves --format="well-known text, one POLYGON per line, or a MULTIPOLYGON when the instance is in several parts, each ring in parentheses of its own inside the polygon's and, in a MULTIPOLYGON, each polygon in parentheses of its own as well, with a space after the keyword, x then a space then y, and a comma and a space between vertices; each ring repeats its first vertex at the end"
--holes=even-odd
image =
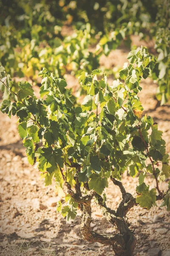
POLYGON ((134 256, 134 249, 136 245, 136 238, 128 228, 127 221, 125 221, 125 215, 136 202, 133 196, 126 193, 122 183, 113 179, 113 183, 119 186, 122 192, 122 201, 119 204, 117 211, 108 208, 103 202, 103 198, 100 195, 95 195, 99 207, 102 209, 102 213, 111 224, 117 227, 119 234, 108 235, 102 233, 96 233, 91 229, 91 200, 85 201, 81 204, 81 233, 84 240, 91 242, 99 242, 101 244, 111 245, 116 256, 134 256))

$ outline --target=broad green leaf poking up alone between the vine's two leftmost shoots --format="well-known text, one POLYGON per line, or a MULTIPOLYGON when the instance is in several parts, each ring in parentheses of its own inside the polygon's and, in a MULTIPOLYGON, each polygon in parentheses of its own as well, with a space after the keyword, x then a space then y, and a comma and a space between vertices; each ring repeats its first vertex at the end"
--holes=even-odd
POLYGON ((18 91, 17 96, 20 99, 24 99, 28 96, 34 97, 34 90, 32 89, 32 86, 30 83, 26 81, 21 81, 21 82, 18 82, 18 86, 20 90, 18 91))

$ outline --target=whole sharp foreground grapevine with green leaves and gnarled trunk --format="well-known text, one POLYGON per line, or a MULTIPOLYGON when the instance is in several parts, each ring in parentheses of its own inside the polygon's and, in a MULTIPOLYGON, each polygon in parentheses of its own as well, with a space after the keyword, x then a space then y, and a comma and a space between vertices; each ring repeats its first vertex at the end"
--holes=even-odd
POLYGON ((137 96, 142 90, 142 77, 147 78, 156 59, 145 47, 130 52, 127 58, 120 71, 121 81, 113 81, 112 86, 100 69, 91 75, 81 73, 79 81, 87 87, 82 105, 66 89, 65 80, 46 69, 40 71, 42 86, 37 99, 27 81, 19 82, 18 92, 13 92, 10 76, 0 67, 0 90, 4 93, 0 110, 9 117, 18 116, 18 132, 28 161, 33 165, 34 157, 37 158, 35 167, 45 178, 45 185, 51 185, 55 179, 56 189, 67 204, 63 206, 59 201, 57 211, 69 220, 79 208, 83 239, 111 245, 116 256, 134 255, 136 238, 125 218, 130 208, 140 205, 149 210, 156 206, 156 201, 163 200, 161 206, 170 210, 170 183, 166 191, 159 187, 160 181, 170 176, 165 141, 153 119, 142 117, 137 96), (15 101, 10 100, 12 94, 15 101), (37 143, 42 146, 34 152, 37 143), (139 174, 136 198, 122 185, 126 169, 132 177, 139 174), (155 180, 153 188, 147 185, 148 175, 155 180), (113 189, 118 186, 122 193, 117 209, 107 206, 104 190, 109 179, 113 189), (92 199, 117 227, 116 235, 92 230, 92 199))

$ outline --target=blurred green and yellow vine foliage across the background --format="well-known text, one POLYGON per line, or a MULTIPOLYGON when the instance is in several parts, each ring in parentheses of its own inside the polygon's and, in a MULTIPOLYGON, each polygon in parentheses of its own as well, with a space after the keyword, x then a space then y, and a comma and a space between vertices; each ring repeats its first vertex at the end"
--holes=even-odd
POLYGON ((11 76, 36 81, 43 67, 57 77, 79 76, 80 69, 98 68, 103 53, 108 55, 122 41, 130 47, 130 35, 139 35, 156 40, 159 63, 152 75, 159 83, 157 98, 161 104, 167 101, 168 0, 0 0, 0 7, 0 64, 11 76))

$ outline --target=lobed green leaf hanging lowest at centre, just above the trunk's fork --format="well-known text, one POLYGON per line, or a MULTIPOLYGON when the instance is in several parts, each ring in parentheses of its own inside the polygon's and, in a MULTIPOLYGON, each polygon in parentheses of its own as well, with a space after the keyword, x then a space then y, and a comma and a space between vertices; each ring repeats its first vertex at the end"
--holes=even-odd
POLYGON ((97 194, 101 195, 105 187, 108 187, 108 178, 101 177, 98 174, 93 173, 91 179, 88 182, 89 189, 94 189, 97 194))

